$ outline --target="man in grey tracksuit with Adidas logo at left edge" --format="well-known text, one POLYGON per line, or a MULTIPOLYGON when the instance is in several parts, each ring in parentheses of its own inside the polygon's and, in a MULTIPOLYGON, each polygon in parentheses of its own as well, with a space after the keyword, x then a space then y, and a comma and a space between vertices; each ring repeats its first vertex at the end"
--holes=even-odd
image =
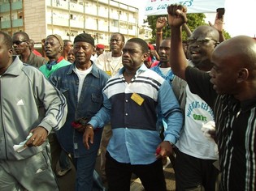
POLYGON ((8 40, 0 32, 0 190, 59 190, 47 136, 66 121, 66 100, 40 70, 12 57, 8 40))

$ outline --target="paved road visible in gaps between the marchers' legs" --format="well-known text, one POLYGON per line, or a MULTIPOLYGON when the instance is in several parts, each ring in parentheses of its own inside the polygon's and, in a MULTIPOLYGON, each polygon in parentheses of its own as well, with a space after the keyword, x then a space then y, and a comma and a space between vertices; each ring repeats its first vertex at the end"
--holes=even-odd
MULTIPOLYGON (((98 171, 99 169, 99 157, 97 158, 95 169, 98 171)), ((168 164, 166 168, 164 168, 164 173, 167 182, 167 191, 175 190, 175 176, 173 168, 171 168, 171 164, 168 164)), ((76 180, 76 172, 75 168, 72 167, 70 172, 67 172, 67 175, 63 177, 59 177, 59 185, 60 191, 72 191, 75 190, 75 180, 76 180)), ((139 179, 132 180, 131 191, 142 191, 144 190, 140 184, 139 179)))

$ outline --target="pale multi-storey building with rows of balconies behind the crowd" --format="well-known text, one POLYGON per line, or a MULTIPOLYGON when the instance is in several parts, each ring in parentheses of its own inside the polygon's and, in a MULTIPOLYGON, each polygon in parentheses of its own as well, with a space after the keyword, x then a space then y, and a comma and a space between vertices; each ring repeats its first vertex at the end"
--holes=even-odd
POLYGON ((1 31, 24 31, 37 43, 50 34, 74 40, 86 32, 108 47, 113 32, 126 40, 139 32, 138 8, 113 0, 1 0, 0 21, 1 31))

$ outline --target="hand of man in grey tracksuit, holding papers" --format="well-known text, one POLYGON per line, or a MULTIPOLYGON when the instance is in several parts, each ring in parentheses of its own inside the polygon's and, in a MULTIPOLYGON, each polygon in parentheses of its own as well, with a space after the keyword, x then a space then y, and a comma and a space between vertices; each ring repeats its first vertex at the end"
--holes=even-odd
POLYGON ((48 131, 41 126, 36 127, 30 131, 33 135, 25 143, 25 146, 41 146, 46 141, 48 131))

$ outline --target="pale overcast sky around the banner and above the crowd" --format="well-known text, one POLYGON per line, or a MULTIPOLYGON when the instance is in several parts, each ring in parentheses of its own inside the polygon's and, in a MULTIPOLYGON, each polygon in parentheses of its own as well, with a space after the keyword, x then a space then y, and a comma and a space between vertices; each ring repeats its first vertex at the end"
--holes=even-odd
MULTIPOLYGON (((148 0, 117 1, 138 7, 140 13, 139 19, 140 23, 142 23, 143 19, 145 19, 144 10, 146 2, 148 2, 148 0)), ((231 36, 256 36, 256 0, 226 0, 225 10, 225 31, 227 31, 231 36)), ((214 22, 215 14, 206 14, 206 22, 208 21, 214 22)))

